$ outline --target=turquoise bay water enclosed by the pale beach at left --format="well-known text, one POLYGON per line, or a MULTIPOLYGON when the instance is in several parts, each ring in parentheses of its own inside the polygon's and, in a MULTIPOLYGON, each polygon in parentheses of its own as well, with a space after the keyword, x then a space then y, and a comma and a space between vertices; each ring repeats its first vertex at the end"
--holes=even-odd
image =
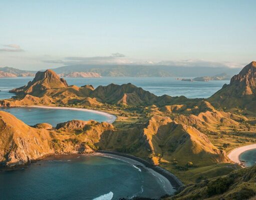
POLYGON ((0 110, 10 112, 17 118, 21 119, 29 125, 37 123, 50 123, 54 127, 57 123, 69 121, 72 119, 96 121, 108 121, 109 118, 105 115, 70 109, 51 109, 38 107, 0 107, 0 110))

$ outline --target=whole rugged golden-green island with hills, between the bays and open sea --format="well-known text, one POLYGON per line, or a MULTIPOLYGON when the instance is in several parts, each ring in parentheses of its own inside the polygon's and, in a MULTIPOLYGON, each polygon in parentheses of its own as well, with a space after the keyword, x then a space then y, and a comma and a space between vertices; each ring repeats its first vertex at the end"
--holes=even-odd
POLYGON ((51 69, 39 71, 1 106, 87 108, 117 118, 32 127, 0 111, 0 163, 7 169, 51 154, 108 151, 171 173, 177 192, 163 199, 246 199, 256 193, 256 166, 243 168, 227 154, 256 143, 255 85, 255 61, 206 99, 157 96, 132 83, 79 87, 51 69))

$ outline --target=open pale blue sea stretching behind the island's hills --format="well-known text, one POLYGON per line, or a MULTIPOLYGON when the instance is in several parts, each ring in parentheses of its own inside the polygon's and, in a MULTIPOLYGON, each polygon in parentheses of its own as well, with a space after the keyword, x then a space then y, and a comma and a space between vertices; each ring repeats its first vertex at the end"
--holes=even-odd
MULTIPOLYGON (((191 77, 186 77, 191 78, 191 77)), ((20 87, 32 80, 33 77, 0 78, 0 99, 10 98, 14 94, 8 91, 20 87)), ((110 83, 124 84, 131 82, 156 95, 168 94, 170 96, 184 95, 189 98, 207 98, 219 90, 229 80, 218 81, 181 81, 175 77, 101 77, 101 78, 65 78, 69 85, 82 86, 92 84, 94 87, 110 83)))

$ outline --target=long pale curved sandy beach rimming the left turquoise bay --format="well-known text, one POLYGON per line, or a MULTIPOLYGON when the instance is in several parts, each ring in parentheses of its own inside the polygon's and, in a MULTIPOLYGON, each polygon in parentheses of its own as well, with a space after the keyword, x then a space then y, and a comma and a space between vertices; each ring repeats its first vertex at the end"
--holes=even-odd
POLYGON ((106 121, 108 123, 113 123, 116 120, 116 116, 113 115, 113 114, 103 112, 103 111, 93 110, 93 109, 86 109, 86 108, 79 108, 79 107, 57 107, 57 106, 55 107, 55 106, 46 106, 46 105, 28 105, 28 106, 25 106, 25 107, 79 110, 79 111, 92 112, 92 113, 104 115, 104 116, 108 117, 108 120, 106 121))

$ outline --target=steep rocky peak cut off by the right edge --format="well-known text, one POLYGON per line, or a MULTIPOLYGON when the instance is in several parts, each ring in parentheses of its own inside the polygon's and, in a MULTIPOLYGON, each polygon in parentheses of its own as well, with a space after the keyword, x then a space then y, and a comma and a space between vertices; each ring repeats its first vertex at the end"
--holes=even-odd
POLYGON ((208 98, 216 107, 246 108, 256 111, 256 62, 252 61, 234 75, 229 84, 208 98))

